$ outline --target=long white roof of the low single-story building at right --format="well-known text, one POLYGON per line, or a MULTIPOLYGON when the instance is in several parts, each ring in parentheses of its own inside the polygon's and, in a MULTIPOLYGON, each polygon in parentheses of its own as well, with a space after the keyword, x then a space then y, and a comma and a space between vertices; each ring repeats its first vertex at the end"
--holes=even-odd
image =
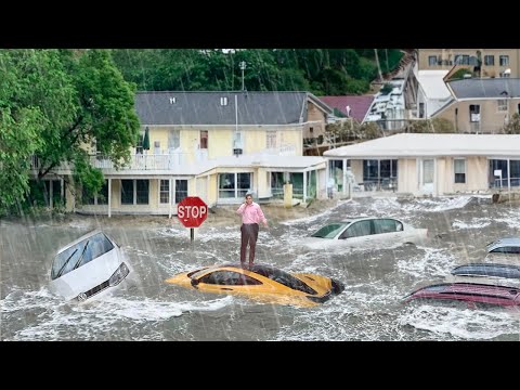
POLYGON ((341 158, 496 156, 520 158, 518 134, 400 133, 323 153, 341 158))

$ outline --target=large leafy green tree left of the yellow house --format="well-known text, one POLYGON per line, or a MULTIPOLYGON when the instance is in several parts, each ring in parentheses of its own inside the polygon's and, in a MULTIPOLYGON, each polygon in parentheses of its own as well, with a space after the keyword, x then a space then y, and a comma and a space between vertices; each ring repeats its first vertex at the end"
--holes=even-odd
POLYGON ((0 182, 4 207, 27 195, 31 155, 39 159, 38 179, 70 162, 77 179, 70 184, 92 192, 103 176, 92 174, 86 146, 117 168, 129 161, 139 131, 135 87, 108 50, 0 50, 0 168, 14 169, 0 177, 10 180, 0 182))

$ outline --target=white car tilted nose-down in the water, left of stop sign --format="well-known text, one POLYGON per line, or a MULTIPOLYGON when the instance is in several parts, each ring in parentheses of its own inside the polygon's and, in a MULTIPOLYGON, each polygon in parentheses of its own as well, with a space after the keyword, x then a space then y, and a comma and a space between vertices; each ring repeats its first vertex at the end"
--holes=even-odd
POLYGON ((113 290, 130 272, 119 245, 96 230, 57 251, 51 268, 50 289, 66 300, 81 302, 113 290))

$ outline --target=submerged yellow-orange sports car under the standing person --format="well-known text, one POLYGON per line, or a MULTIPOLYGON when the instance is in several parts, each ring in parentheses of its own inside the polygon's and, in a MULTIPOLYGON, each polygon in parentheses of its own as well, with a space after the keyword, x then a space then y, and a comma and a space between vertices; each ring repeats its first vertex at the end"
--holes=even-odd
POLYGON ((217 264, 165 281, 200 291, 238 294, 262 302, 312 307, 344 290, 336 280, 310 273, 289 274, 271 265, 217 264))

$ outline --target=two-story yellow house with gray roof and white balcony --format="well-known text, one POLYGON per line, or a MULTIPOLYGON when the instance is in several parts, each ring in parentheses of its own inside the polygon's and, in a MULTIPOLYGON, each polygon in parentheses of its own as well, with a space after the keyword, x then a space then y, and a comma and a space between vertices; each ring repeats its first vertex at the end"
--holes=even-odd
POLYGON ((247 192, 270 200, 290 182, 303 202, 325 196, 325 159, 303 156, 303 139, 325 132, 332 108, 308 92, 138 92, 142 138, 131 162, 106 178, 102 193, 76 203, 86 213, 177 213, 185 196, 209 207, 247 192))

